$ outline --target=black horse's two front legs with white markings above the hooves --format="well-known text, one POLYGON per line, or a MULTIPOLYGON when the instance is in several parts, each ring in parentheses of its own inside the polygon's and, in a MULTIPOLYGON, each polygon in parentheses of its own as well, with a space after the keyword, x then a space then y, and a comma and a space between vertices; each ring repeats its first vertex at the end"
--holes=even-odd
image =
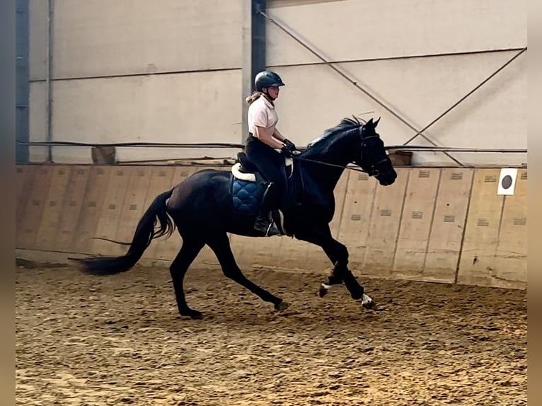
POLYGON ((313 226, 309 230, 296 233, 296 238, 320 246, 334 265, 333 272, 328 277, 328 284, 321 284, 321 297, 328 293, 331 286, 344 282, 346 288, 350 291, 350 296, 352 296, 354 300, 361 299, 364 308, 371 308, 374 306, 373 299, 365 294, 363 286, 357 282, 352 271, 348 269, 347 248, 331 236, 328 224, 320 225, 318 227, 313 226))

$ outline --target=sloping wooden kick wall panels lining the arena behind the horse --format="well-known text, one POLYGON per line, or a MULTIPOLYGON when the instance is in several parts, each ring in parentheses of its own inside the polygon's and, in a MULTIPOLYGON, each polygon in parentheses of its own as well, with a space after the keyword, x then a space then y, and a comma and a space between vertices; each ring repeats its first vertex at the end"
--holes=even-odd
MULTIPOLYGON (((16 168, 16 248, 121 255, 159 193, 202 167, 27 165, 16 168)), ((227 169, 227 168, 226 168, 227 169)), ((526 288, 527 170, 497 195, 493 168, 398 168, 389 187, 345 171, 331 231, 357 275, 526 288)), ((329 272, 316 246, 289 237, 230 236, 242 268, 329 272)), ((144 258, 173 260, 182 240, 154 240, 144 258)), ((217 265, 204 248, 195 265, 217 265)))

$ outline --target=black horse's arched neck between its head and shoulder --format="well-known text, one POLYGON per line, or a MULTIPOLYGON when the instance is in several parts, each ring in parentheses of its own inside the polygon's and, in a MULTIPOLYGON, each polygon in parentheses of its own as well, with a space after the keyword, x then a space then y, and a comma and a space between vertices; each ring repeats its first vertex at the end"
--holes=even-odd
POLYGON ((313 161, 328 163, 305 164, 306 172, 311 178, 318 180, 318 184, 329 187, 332 190, 337 185, 346 166, 354 161, 354 153, 357 148, 354 146, 354 137, 357 137, 357 130, 348 134, 341 134, 339 137, 334 137, 329 141, 328 146, 321 146, 316 151, 310 149, 304 154, 303 158, 308 158, 313 161), (312 153, 311 153, 312 152, 312 153))

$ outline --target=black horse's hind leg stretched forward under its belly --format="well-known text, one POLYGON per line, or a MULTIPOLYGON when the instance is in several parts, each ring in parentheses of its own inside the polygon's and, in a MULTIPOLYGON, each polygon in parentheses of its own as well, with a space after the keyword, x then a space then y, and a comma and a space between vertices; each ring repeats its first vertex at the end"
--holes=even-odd
POLYGON ((263 301, 273 303, 275 310, 284 310, 288 307, 288 304, 281 298, 277 298, 277 296, 270 294, 270 292, 261 288, 254 282, 251 282, 243 272, 241 272, 241 269, 238 267, 236 260, 233 257, 233 253, 231 252, 231 246, 226 233, 212 238, 212 240, 207 242, 207 245, 209 245, 214 254, 217 255, 224 276, 232 279, 241 286, 244 286, 253 294, 259 296, 263 301))

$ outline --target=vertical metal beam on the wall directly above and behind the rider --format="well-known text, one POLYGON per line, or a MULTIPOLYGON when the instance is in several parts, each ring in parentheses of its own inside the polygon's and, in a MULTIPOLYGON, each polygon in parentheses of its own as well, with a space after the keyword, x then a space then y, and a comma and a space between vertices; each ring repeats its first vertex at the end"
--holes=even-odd
POLYGON ((243 103, 241 117, 241 142, 248 135, 246 115, 248 105, 245 98, 254 91, 254 77, 265 69, 265 12, 266 0, 243 0, 243 103))

